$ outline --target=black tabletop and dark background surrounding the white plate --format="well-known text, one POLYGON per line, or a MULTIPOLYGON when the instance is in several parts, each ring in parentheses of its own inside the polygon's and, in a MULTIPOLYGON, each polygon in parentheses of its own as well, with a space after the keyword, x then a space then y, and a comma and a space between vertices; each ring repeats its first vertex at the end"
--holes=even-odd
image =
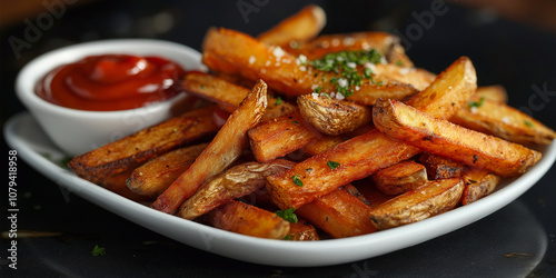
MULTIPOLYGON (((17 72, 46 51, 109 38, 157 38, 200 49, 205 31, 211 26, 257 34, 309 1, 50 2, 62 3, 64 9, 58 10, 59 17, 53 17, 53 23, 41 30, 30 47, 16 51, 10 38, 24 39, 26 28, 37 23, 41 13, 0 30, 2 125, 24 110, 13 92, 17 72), (247 7, 246 3, 255 8, 241 12, 239 7, 247 7)), ((431 11, 428 1, 314 2, 327 12, 325 33, 384 30, 408 34, 408 56, 418 67, 433 72, 441 71, 459 56, 468 56, 477 69, 479 86, 504 85, 512 106, 528 109, 535 118, 556 128, 556 99, 550 96, 556 93, 555 33, 509 21, 489 10, 458 4, 446 4, 444 14, 420 21, 424 12, 431 11), (423 32, 407 33, 411 24, 420 24, 423 32), (532 102, 538 89, 549 97, 532 102)), ((1 146, 6 166, 10 147, 3 139, 1 146)), ((18 165, 18 230, 58 236, 19 238, 17 270, 8 267, 9 241, 2 237, 2 277, 556 276, 555 167, 520 198, 467 227, 380 257, 316 268, 252 265, 200 251, 78 196, 68 197, 24 161, 18 165), (105 247, 107 255, 91 256, 96 245, 105 247)), ((2 231, 9 230, 7 183, 0 190, 2 231)))

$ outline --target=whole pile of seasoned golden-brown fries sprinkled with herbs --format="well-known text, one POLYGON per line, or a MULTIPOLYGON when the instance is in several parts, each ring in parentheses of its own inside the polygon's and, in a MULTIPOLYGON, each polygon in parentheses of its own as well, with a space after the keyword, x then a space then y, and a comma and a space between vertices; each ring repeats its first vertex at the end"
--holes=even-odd
POLYGON ((395 36, 318 36, 325 23, 308 6, 257 38, 208 30, 210 72, 182 81, 202 105, 70 168, 188 220, 319 240, 474 202, 535 165, 535 147, 556 136, 508 107, 503 87, 477 88, 466 57, 436 76, 415 68, 395 36))

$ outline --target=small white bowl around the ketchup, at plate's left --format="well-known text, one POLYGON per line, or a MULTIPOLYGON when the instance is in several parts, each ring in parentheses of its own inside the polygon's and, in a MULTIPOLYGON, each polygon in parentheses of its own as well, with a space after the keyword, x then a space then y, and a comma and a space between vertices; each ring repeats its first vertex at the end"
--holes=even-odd
POLYGON ((160 40, 120 39, 86 42, 44 53, 19 72, 18 98, 34 116, 48 137, 64 152, 77 156, 118 140, 175 116, 185 101, 180 93, 167 101, 120 111, 83 111, 50 103, 34 93, 34 86, 49 71, 92 54, 158 56, 179 63, 185 70, 205 70, 201 53, 189 47, 160 40))

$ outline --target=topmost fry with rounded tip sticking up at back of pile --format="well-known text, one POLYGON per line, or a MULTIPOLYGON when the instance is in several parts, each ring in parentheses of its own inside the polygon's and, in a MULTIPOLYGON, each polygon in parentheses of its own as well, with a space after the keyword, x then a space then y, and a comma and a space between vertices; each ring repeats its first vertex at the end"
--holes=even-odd
POLYGON ((317 37, 325 24, 326 13, 322 8, 309 4, 257 38, 268 44, 284 46, 292 40, 306 41, 317 37))

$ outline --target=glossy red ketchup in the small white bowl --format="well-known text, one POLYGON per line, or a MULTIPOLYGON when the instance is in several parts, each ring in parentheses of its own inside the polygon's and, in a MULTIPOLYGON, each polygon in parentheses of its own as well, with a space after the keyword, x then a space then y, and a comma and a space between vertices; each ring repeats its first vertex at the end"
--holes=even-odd
POLYGON ((159 57, 90 56, 47 73, 36 93, 67 108, 126 110, 175 97, 185 73, 176 62, 159 57))

